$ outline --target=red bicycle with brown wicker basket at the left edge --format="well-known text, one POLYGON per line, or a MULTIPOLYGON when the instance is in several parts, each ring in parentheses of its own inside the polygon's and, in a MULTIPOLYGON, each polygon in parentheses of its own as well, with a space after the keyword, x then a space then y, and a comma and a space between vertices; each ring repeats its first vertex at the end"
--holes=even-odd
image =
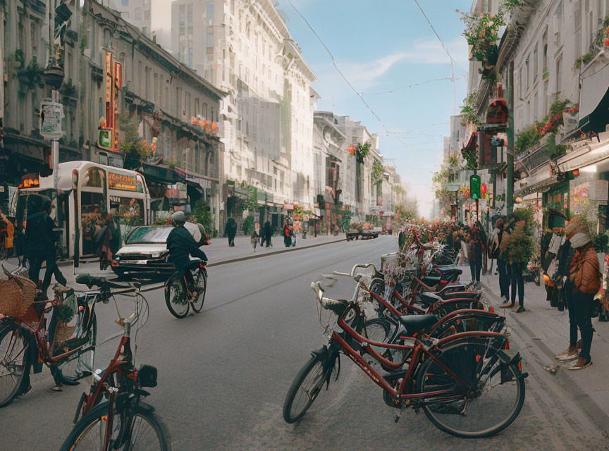
POLYGON ((77 293, 56 285, 54 299, 35 300, 31 280, 6 271, 4 263, 2 269, 8 276, 3 283, 20 287, 20 292, 19 299, 9 303, 5 296, 1 303, 0 313, 6 316, 0 320, 0 407, 27 393, 30 371, 40 373, 43 364, 49 366, 59 389, 90 375, 97 340, 95 306, 109 302, 110 288, 131 288, 80 274, 77 283, 99 290, 77 293))

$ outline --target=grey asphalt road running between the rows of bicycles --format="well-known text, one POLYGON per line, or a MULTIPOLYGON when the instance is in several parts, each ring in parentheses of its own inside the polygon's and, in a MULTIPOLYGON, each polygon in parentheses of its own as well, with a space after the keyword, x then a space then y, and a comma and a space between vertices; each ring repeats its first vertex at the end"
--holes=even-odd
MULTIPOLYGON (((339 242, 298 252, 209 268, 202 314, 178 320, 163 292, 146 293, 147 325, 137 335, 138 364, 159 369, 147 402, 171 434, 173 450, 604 450, 607 437, 539 365, 515 325, 512 344, 529 371, 519 418, 493 438, 462 440, 434 428, 424 414, 405 411, 395 424, 382 391, 347 359, 337 383, 321 393, 296 425, 285 424, 285 393, 309 351, 326 339, 309 285, 321 272, 348 271, 392 252, 395 237, 339 242)), ((352 281, 339 278, 331 297, 349 297, 352 281)), ((99 304, 98 338, 116 330, 112 304, 99 304)), ((120 301, 121 314, 130 313, 120 301)), ((525 336, 525 335, 522 335, 525 336)), ((98 347, 97 367, 109 362, 118 341, 98 347)), ((82 390, 54 393, 47 369, 32 376, 32 390, 0 409, 0 449, 56 450, 68 435, 82 390)))

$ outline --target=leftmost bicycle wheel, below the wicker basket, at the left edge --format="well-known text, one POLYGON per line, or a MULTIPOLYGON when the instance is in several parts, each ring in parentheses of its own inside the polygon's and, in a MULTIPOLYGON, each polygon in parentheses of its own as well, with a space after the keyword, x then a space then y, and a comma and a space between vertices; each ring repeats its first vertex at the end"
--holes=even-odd
POLYGON ((11 404, 21 392, 23 378, 30 369, 28 345, 19 326, 0 326, 0 407, 11 404))

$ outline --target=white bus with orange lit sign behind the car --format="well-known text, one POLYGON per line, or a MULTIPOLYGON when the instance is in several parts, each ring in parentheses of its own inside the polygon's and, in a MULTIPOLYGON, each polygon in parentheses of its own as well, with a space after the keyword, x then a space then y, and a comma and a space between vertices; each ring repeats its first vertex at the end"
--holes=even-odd
POLYGON ((109 214, 121 226, 121 235, 150 222, 150 194, 144 177, 135 171, 92 161, 59 163, 57 190, 53 176, 24 178, 11 201, 11 216, 25 227, 32 194, 53 200, 53 216, 61 229, 64 257, 96 254, 95 235, 109 214))

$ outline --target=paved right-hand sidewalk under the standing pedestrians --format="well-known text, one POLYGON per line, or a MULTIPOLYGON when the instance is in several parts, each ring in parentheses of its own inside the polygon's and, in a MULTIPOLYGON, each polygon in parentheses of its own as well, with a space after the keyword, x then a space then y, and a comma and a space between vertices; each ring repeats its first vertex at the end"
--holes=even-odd
MULTIPOLYGON (((464 274, 467 272, 464 271, 464 274)), ((481 283, 485 288, 484 294, 495 306, 495 311, 504 314, 504 309, 498 307, 502 303, 499 299, 499 276, 482 276, 481 283)), ((592 319, 592 326, 596 329, 590 352, 593 364, 581 371, 570 371, 567 366, 572 362, 560 364, 554 358, 569 345, 568 312, 551 308, 550 302, 546 301, 546 289, 543 285, 538 287, 534 283, 524 284, 524 308, 527 311, 520 314, 515 309, 505 309, 505 315, 528 335, 521 338, 541 351, 539 354, 542 362, 527 363, 555 369, 553 375, 573 395, 574 400, 598 426, 609 432, 609 323, 592 319)))

